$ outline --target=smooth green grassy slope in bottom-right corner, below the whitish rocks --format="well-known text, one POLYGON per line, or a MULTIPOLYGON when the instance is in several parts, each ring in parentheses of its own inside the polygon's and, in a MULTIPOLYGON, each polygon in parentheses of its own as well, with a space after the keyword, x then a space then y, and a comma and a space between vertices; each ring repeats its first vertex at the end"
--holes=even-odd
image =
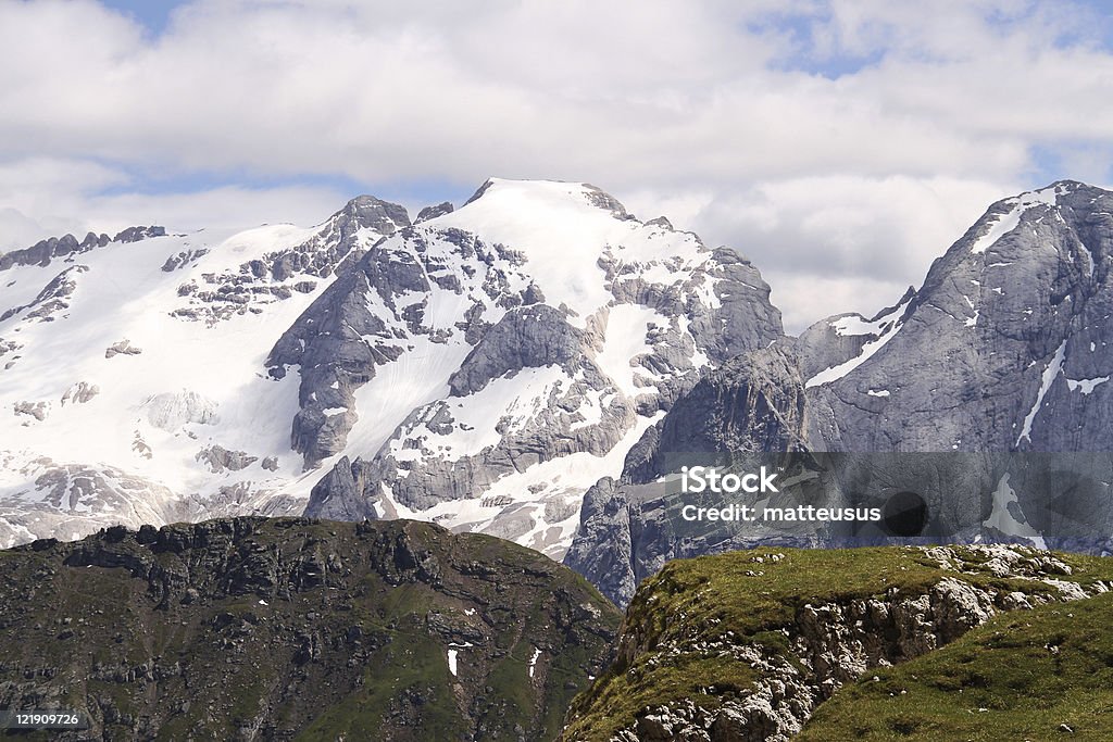
POLYGON ((999 615, 845 686, 797 739, 1113 740, 1111 626, 1111 593, 999 615))

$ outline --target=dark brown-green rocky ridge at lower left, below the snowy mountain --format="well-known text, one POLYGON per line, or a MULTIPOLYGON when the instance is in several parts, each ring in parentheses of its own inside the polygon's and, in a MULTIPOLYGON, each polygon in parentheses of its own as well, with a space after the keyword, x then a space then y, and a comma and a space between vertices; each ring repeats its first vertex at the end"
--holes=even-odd
POLYGON ((0 708, 51 740, 552 740, 620 614, 536 552, 234 518, 0 552, 0 708))

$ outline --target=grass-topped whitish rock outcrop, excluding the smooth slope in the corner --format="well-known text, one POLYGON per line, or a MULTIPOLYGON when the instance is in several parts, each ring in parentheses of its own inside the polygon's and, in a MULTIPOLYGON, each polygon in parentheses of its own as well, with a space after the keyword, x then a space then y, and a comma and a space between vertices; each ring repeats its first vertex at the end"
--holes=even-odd
POLYGON ((1107 560, 1072 566, 1026 547, 817 552, 808 565, 799 556, 761 550, 676 563, 642 585, 614 665, 577 699, 562 739, 787 742, 869 670, 932 652, 1001 612, 1105 593, 1113 574, 1107 560), (870 560, 880 573, 850 576, 870 560), (812 572, 792 577, 799 570, 812 572), (668 679, 660 686, 658 674, 668 679))

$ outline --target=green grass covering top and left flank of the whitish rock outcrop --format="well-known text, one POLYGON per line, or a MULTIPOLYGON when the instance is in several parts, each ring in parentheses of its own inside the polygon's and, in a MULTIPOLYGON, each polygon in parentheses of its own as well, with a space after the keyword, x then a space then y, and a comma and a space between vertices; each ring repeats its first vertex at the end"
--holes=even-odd
MULTIPOLYGON (((809 604, 870 597, 898 602, 927 594, 944 578, 987 591, 998 610, 1009 593, 1060 596, 1045 582, 995 574, 978 550, 959 547, 954 554, 961 571, 944 570, 915 547, 764 548, 671 562, 640 586, 622 627, 618 660, 573 702, 563 739, 605 740, 633 728, 656 706, 688 700, 713 713, 745 698, 760 671, 738 661, 737 652, 732 656, 732 647, 757 649, 766 660, 779 659, 806 672, 789 637, 809 604)), ((1038 553, 1031 554, 1037 563, 1038 553)), ((1086 588, 1113 580, 1113 560, 1056 556, 1071 574, 1047 576, 1086 588)))

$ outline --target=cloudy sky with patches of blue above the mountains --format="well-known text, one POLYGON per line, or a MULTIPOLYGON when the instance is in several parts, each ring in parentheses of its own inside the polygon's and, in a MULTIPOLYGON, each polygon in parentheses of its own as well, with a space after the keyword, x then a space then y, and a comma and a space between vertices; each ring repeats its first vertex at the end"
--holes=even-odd
POLYGON ((590 181, 799 330, 998 198, 1113 181, 1101 0, 0 0, 0 250, 590 181))

